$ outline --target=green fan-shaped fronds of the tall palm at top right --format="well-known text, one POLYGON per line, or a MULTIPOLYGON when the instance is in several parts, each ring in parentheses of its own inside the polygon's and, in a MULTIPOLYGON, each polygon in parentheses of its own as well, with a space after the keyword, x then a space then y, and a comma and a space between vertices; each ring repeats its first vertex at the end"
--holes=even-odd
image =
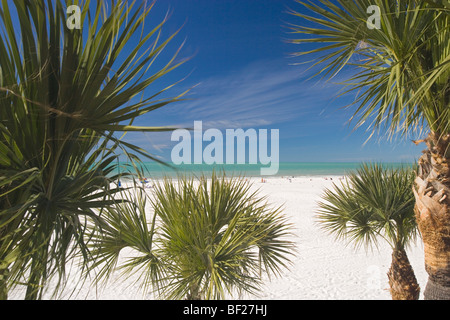
POLYGON ((450 132, 450 8, 445 1, 297 1, 308 13, 292 14, 297 56, 319 57, 317 74, 351 70, 345 92, 356 94, 358 126, 384 126, 408 134, 428 126, 450 132), (369 28, 370 6, 380 8, 380 29, 369 28), (319 44, 319 46, 316 46, 319 44), (307 45, 313 48, 307 49, 307 45))

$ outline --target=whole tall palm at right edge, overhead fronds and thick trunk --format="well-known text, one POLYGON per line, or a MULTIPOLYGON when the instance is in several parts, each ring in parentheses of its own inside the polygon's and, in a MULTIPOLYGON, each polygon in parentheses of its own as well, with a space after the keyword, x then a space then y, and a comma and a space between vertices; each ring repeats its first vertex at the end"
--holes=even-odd
MULTIPOLYGON (((297 1, 297 44, 317 45, 321 74, 354 72, 356 125, 403 136, 428 131, 415 180, 417 223, 429 274, 426 299, 450 299, 450 5, 444 0, 297 1), (373 6, 379 8, 381 15, 373 6), (309 11, 309 13, 307 13, 309 11), (374 13, 375 12, 375 13, 374 13), (375 14, 375 16, 373 16, 375 14), (372 21, 379 19, 379 26, 372 21), (379 27, 379 28, 378 28, 379 27)), ((376 22, 376 21, 375 21, 376 22)), ((374 131, 375 132, 375 131, 374 131)), ((416 141, 417 143, 420 140, 416 141)))

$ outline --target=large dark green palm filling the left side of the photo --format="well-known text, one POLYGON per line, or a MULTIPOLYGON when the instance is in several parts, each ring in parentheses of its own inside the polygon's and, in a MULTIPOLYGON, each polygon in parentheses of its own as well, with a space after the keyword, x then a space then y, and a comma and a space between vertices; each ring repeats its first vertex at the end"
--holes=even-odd
POLYGON ((87 261, 86 221, 114 205, 119 153, 146 151, 124 132, 162 131, 133 121, 177 101, 152 84, 178 67, 178 51, 154 63, 175 34, 166 19, 147 30, 153 5, 122 1, 2 0, 0 7, 0 293, 25 283, 26 299, 66 262, 87 261), (81 29, 66 8, 81 8, 81 29), (144 27, 145 26, 145 27, 144 27), (142 95, 144 90, 151 90, 142 95), (100 212, 100 213, 99 213, 100 212), (5 280, 6 279, 6 280, 5 280), (5 287, 7 286, 7 287, 5 287))

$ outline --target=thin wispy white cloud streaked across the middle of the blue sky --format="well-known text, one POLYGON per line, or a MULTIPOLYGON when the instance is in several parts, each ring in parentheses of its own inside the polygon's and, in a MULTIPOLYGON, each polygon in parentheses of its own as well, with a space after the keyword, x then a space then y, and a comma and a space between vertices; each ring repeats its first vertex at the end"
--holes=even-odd
MULTIPOLYGON (((249 128, 274 126, 317 110, 324 85, 305 85, 303 70, 287 64, 258 62, 236 72, 203 80, 195 100, 182 106, 190 125, 249 128)), ((186 123, 183 123, 186 124, 186 123)))

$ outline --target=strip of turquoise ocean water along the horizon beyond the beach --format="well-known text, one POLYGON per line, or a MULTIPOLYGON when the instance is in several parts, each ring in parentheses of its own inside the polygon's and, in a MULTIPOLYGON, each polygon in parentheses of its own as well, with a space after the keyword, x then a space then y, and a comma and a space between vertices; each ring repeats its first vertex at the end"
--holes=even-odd
MULTIPOLYGON (((412 163, 382 163, 386 167, 411 167, 412 163)), ((269 167, 262 164, 182 164, 168 167, 157 162, 144 162, 141 169, 146 178, 158 179, 164 176, 176 177, 177 175, 211 175, 213 171, 225 172, 227 176, 262 177, 261 168, 269 167)), ((271 177, 299 177, 299 176, 344 176, 349 171, 354 171, 361 166, 360 162, 282 162, 279 164, 278 173, 271 177)), ((134 172, 132 166, 120 163, 120 173, 134 172)), ((117 173, 117 172, 116 172, 117 173)))

